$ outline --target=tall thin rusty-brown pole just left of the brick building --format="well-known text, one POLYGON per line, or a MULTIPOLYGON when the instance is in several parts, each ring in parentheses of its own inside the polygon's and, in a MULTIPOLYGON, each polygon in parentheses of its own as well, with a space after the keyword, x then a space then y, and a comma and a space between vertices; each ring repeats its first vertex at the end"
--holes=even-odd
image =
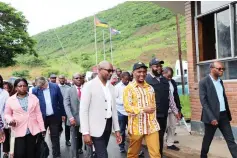
POLYGON ((185 91, 184 91, 184 72, 183 72, 181 38, 180 38, 180 26, 179 26, 179 16, 178 16, 178 14, 176 15, 176 26, 177 26, 179 64, 180 64, 181 82, 182 82, 182 94, 184 95, 185 94, 185 91))

